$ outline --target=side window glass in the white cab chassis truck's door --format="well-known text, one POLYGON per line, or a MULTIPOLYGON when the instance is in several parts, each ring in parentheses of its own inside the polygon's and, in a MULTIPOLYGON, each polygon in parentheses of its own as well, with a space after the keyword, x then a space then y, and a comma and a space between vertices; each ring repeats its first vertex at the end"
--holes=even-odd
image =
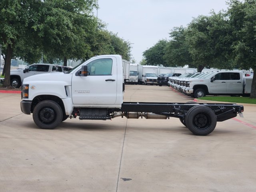
POLYGON ((111 75, 113 60, 110 58, 97 59, 87 64, 88 75, 111 75))

